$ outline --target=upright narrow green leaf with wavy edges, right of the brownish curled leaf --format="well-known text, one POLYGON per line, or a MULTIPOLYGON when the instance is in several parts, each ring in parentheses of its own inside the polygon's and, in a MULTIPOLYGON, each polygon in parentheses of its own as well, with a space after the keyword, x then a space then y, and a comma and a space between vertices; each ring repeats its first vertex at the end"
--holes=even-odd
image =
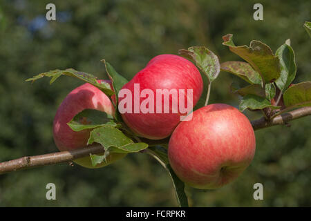
POLYGON ((281 92, 284 93, 296 77, 294 50, 288 44, 283 44, 276 50, 276 55, 280 60, 281 76, 276 79, 275 83, 281 92))

